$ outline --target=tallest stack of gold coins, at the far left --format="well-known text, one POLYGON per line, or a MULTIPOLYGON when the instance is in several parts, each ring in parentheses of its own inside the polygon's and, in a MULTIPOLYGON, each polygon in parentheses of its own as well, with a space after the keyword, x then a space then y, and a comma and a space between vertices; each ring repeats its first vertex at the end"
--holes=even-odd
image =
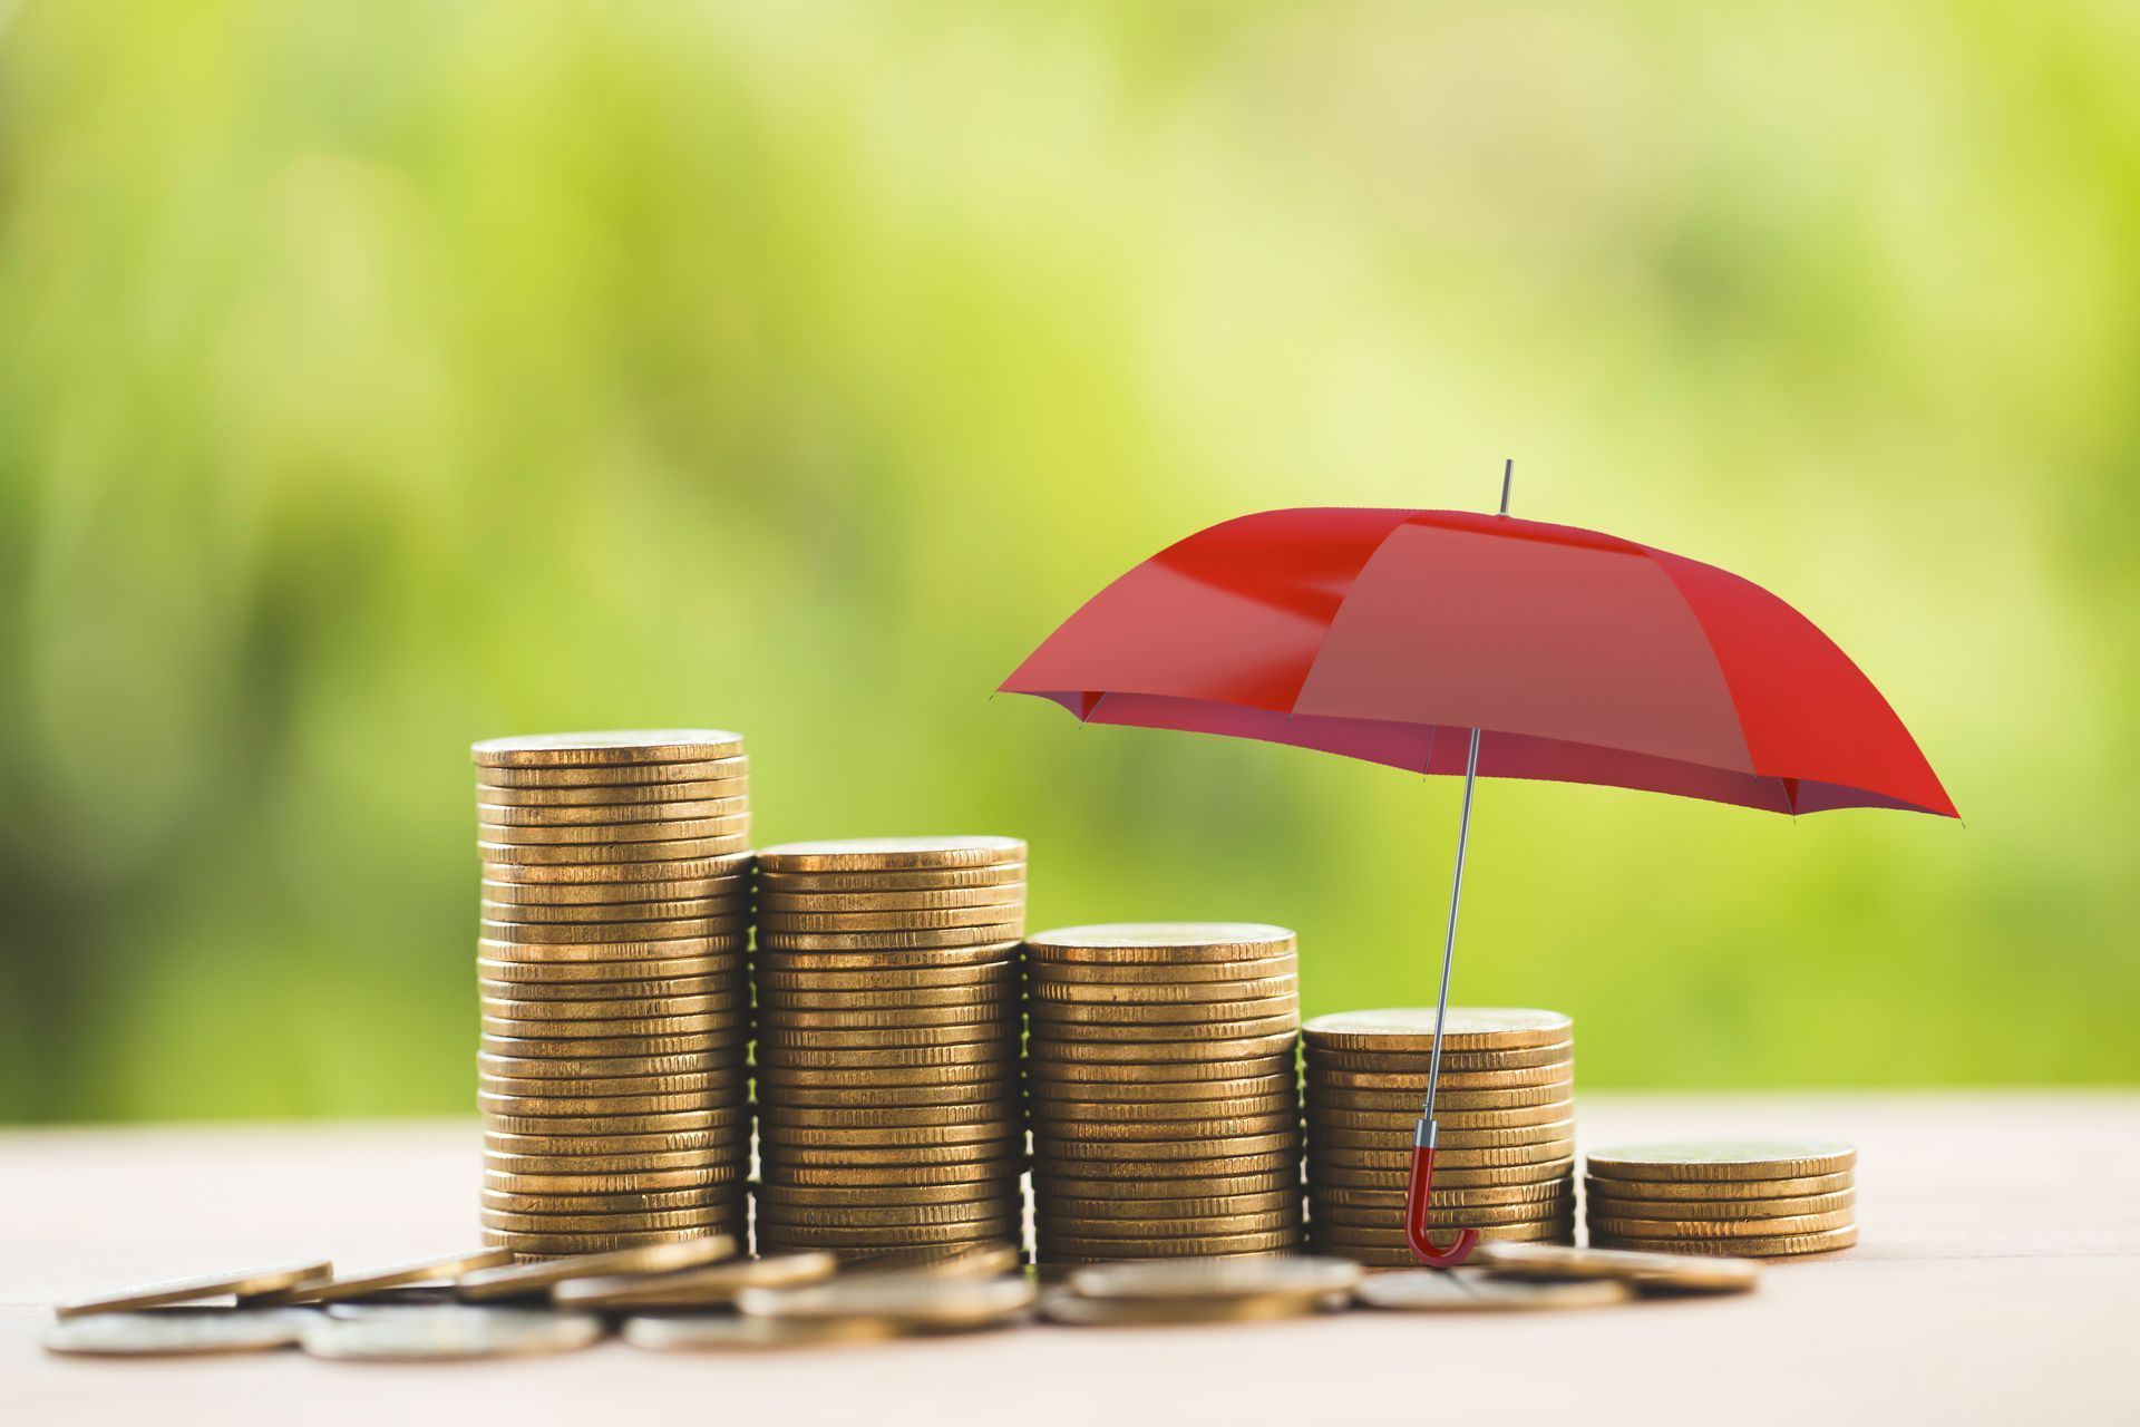
POLYGON ((486 1241, 546 1258, 740 1239, 743 738, 492 738, 475 768, 486 1241))

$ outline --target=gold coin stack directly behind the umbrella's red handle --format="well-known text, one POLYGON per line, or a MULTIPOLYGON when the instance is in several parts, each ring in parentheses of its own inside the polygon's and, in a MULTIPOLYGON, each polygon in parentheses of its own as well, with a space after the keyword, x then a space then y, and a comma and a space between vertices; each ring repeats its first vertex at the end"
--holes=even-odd
MULTIPOLYGON (((1575 1239, 1575 1035, 1549 1010, 1459 1008, 1444 1021, 1430 1226, 1483 1239, 1575 1239)), ((1308 1072, 1308 1219, 1318 1254, 1410 1264, 1404 1187, 1427 1098, 1434 1008, 1316 1016, 1308 1072)))

